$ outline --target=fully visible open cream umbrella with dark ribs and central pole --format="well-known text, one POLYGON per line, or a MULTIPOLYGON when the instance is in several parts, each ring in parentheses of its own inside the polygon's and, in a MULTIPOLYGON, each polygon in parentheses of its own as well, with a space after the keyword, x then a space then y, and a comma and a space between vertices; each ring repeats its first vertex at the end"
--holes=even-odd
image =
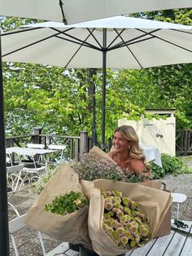
POLYGON ((2 60, 65 68, 149 68, 192 62, 192 26, 117 16, 81 24, 46 22, 2 34, 2 60), (14 42, 14 43, 13 43, 14 42))

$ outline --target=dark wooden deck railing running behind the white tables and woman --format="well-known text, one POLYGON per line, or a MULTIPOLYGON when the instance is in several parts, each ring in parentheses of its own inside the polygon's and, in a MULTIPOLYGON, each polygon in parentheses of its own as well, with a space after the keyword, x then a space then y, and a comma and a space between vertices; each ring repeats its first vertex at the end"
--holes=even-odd
MULTIPOLYGON (((24 147, 27 143, 43 143, 45 148, 49 144, 67 145, 66 156, 69 159, 78 160, 84 152, 89 152, 93 147, 92 138, 88 136, 87 131, 83 130, 80 136, 64 136, 64 135, 43 135, 41 128, 35 128, 31 135, 20 135, 6 138, 6 146, 24 147)), ((111 148, 111 142, 107 144, 107 148, 111 148)), ((192 154, 192 130, 178 130, 176 136, 176 153, 177 155, 192 154)))

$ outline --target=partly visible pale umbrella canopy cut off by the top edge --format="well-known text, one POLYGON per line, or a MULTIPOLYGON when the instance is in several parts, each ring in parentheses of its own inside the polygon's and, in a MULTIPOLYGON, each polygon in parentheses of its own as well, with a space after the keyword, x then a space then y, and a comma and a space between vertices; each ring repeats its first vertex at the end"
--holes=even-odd
POLYGON ((0 15, 73 24, 128 13, 190 7, 191 0, 0 0, 0 15))

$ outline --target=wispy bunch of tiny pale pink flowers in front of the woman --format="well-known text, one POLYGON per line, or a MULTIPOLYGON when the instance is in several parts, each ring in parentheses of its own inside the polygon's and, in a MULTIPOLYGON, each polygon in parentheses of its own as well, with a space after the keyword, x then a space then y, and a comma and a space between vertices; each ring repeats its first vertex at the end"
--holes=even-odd
POLYGON ((106 158, 98 158, 94 154, 85 154, 80 161, 72 161, 70 166, 79 175, 79 179, 93 181, 94 179, 111 179, 129 183, 140 183, 146 179, 145 175, 129 176, 124 174, 120 166, 106 158))

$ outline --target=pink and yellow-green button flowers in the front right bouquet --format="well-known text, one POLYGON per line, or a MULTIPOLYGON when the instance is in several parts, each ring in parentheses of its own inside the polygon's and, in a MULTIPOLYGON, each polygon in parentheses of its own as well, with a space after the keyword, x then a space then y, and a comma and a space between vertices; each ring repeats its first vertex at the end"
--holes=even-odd
POLYGON ((104 196, 103 230, 116 245, 131 249, 141 247, 151 237, 148 219, 138 210, 139 204, 120 191, 101 191, 104 196))

